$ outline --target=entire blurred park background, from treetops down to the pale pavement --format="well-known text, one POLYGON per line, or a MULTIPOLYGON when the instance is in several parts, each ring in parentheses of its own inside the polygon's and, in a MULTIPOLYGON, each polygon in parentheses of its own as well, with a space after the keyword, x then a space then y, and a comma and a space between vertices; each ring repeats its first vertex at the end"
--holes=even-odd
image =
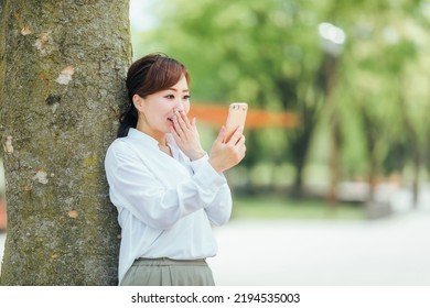
POLYGON ((192 109, 249 103, 219 284, 430 284, 430 2, 132 0, 130 18, 133 59, 184 63, 192 109))

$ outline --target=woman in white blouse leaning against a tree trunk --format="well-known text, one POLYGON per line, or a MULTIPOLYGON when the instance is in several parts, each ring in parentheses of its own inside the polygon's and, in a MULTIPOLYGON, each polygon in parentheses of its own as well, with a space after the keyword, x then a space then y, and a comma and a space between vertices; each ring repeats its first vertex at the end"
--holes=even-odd
POLYGON ((105 160, 121 227, 120 285, 214 285, 211 227, 229 219, 223 172, 244 158, 245 136, 239 128, 225 143, 223 127, 206 154, 186 117, 189 82, 186 68, 160 54, 129 68, 129 110, 105 160))

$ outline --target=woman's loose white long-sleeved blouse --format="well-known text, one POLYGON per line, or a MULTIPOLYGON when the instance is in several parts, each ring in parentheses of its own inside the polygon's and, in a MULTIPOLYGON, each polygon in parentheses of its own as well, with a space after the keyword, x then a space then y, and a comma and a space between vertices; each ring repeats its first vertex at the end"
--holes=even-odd
POLYGON ((130 129, 107 151, 109 196, 121 227, 119 284, 139 257, 214 256, 211 224, 224 224, 230 217, 230 189, 207 155, 191 162, 171 134, 166 142, 173 157, 154 139, 130 129))

